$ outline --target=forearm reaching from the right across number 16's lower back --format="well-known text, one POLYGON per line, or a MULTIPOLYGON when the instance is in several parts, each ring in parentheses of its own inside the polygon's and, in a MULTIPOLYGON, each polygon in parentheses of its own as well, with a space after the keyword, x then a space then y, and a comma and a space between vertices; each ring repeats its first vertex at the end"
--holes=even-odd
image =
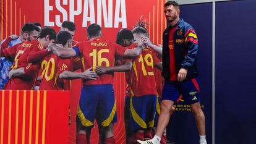
POLYGON ((114 67, 105 67, 105 66, 97 66, 95 71, 98 75, 112 72, 128 72, 132 69, 132 62, 126 61, 124 64, 120 66, 114 67))

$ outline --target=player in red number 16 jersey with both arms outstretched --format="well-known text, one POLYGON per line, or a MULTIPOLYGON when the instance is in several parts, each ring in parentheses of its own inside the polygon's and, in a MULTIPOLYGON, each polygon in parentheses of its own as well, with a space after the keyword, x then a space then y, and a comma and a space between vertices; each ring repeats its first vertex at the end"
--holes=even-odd
MULTIPOLYGON (((53 53, 60 57, 72 57, 81 54, 83 67, 88 69, 97 66, 114 66, 114 57, 136 57, 142 51, 142 43, 135 49, 126 49, 119 44, 105 41, 101 38, 101 27, 95 23, 87 28, 89 41, 83 41, 74 49, 61 49, 50 46, 53 53)), ((115 143, 114 123, 116 117, 116 102, 114 100, 113 73, 101 74, 96 80, 84 80, 77 111, 77 143, 87 143, 87 130, 92 129, 94 120, 103 127, 105 140, 102 143, 115 143)))

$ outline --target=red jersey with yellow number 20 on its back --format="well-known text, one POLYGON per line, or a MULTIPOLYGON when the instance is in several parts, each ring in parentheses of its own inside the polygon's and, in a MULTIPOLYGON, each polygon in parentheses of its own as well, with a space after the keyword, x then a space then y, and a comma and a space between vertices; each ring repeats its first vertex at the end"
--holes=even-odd
POLYGON ((65 70, 69 70, 70 59, 61 59, 55 54, 46 56, 41 61, 41 84, 39 90, 64 90, 65 81, 59 75, 65 70))

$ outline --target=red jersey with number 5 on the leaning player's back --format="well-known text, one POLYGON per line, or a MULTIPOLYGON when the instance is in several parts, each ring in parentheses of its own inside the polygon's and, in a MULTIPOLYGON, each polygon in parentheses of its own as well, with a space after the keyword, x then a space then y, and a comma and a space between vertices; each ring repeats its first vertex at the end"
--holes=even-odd
POLYGON ((43 44, 39 43, 38 40, 23 41, 20 44, 12 46, 8 49, 3 49, 1 55, 13 56, 15 52, 15 59, 12 69, 19 69, 24 67, 25 75, 22 77, 10 78, 4 89, 6 90, 33 90, 35 85, 36 77, 38 74, 38 64, 32 64, 27 62, 28 54, 33 51, 40 51, 45 49, 43 44))

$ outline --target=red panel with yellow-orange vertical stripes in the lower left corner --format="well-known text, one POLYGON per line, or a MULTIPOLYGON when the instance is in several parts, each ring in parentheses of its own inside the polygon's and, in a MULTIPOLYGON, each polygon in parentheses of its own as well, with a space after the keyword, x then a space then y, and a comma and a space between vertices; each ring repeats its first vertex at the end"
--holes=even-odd
POLYGON ((0 143, 67 143, 69 91, 0 91, 0 143))

